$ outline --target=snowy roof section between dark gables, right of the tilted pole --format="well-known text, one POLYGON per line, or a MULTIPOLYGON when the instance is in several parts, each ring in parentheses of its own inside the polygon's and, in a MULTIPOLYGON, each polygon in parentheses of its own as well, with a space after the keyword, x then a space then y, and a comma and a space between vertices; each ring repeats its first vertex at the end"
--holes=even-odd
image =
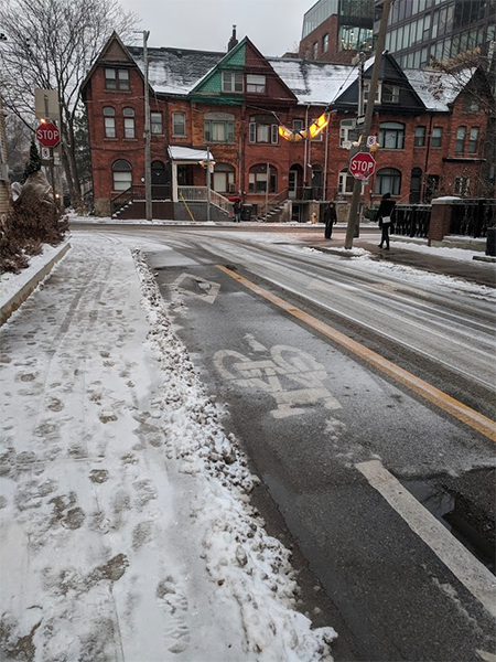
POLYGON ((448 111, 450 104, 473 77, 475 70, 467 67, 456 75, 429 70, 403 72, 428 110, 448 111))

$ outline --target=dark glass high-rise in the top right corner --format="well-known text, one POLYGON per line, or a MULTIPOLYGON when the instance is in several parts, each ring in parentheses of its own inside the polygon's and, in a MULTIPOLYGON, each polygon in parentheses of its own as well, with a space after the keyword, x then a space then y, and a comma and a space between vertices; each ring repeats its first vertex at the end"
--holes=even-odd
MULTIPOLYGON (((375 3, 378 30, 382 0, 375 3)), ((397 0, 391 4, 386 49, 403 68, 486 55, 496 31, 495 0, 397 0)))

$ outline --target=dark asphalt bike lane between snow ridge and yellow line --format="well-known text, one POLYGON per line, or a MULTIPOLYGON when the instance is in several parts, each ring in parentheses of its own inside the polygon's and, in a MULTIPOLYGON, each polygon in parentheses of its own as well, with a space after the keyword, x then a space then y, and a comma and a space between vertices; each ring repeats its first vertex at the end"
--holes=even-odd
MULTIPOLYGON (((160 268, 157 279, 165 301, 184 302, 171 308, 177 333, 226 403, 226 427, 339 610, 357 659, 496 654, 490 599, 483 605, 463 568, 424 542, 429 519, 416 526, 367 478, 376 465, 407 480, 494 463, 494 444, 214 265, 160 268)), ((456 555, 454 543, 445 546, 456 555)), ((494 592, 496 578, 478 579, 494 592)))

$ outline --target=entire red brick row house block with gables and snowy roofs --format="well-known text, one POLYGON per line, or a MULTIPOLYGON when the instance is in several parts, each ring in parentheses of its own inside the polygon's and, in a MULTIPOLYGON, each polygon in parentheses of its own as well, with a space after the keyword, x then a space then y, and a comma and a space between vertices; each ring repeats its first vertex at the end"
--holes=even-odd
MULTIPOLYGON (((358 89, 366 99, 373 60, 359 85, 355 65, 265 57, 235 32, 227 53, 148 53, 153 217, 187 220, 193 210, 204 220, 208 180, 218 220, 228 220, 235 196, 258 217, 282 209, 280 218, 303 222, 322 201, 349 199, 358 89), (279 135, 280 126, 296 135, 324 111, 330 122, 315 139, 279 135), (215 164, 207 177, 208 161, 215 164)), ((144 217, 143 72, 143 49, 114 34, 82 86, 97 215, 144 217), (131 202, 130 211, 123 203, 131 202)), ((366 205, 386 191, 402 202, 487 195, 492 140, 483 85, 481 72, 403 71, 385 54, 371 128, 380 148, 376 173, 363 186, 366 205)))

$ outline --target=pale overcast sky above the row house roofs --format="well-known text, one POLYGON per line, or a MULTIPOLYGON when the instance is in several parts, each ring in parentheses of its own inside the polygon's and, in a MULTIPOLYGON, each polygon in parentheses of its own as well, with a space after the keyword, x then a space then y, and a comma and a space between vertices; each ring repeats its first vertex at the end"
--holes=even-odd
MULTIPOLYGON (((134 11, 150 46, 226 51, 237 25, 263 55, 283 55, 300 42, 303 14, 315 0, 120 0, 134 11)), ((136 45, 139 44, 137 35, 136 45)))

